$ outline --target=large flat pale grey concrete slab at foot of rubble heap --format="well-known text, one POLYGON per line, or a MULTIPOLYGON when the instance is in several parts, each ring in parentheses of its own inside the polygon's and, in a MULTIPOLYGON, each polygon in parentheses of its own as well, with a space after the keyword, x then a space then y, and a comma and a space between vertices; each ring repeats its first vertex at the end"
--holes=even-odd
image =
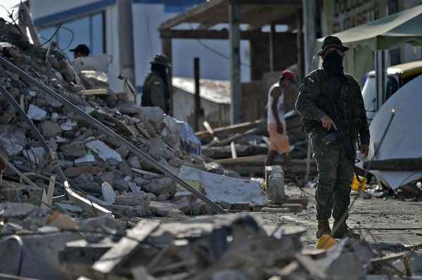
POLYGON ((264 205, 268 202, 260 185, 252 180, 230 178, 189 166, 181 166, 179 176, 183 180, 200 182, 205 194, 213 202, 248 202, 251 205, 264 205))

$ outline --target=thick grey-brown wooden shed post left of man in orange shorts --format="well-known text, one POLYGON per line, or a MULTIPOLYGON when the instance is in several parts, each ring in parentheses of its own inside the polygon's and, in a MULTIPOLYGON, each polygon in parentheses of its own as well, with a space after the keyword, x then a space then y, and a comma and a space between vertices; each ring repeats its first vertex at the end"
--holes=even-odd
POLYGON ((229 4, 230 37, 230 121, 238 124, 242 120, 242 84, 241 84, 241 11, 238 4, 229 4))

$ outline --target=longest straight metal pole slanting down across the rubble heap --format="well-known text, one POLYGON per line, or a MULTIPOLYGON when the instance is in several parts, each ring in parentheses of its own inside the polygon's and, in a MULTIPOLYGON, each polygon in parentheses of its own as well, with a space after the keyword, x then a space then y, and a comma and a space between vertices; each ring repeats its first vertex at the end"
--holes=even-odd
POLYGON ((133 152, 137 156, 140 156, 141 158, 148 161, 149 164, 157 168, 159 171, 161 171, 164 175, 166 175, 169 178, 172 178, 174 181, 178 182, 179 185, 187 189, 192 194, 195 194, 200 198, 202 201, 204 201, 206 204, 208 204, 214 211, 217 213, 226 213, 223 208, 212 202, 210 199, 207 198, 207 196, 201 194, 197 189, 189 185, 184 180, 181 180, 181 178, 177 177, 176 174, 172 173, 170 169, 166 168, 165 166, 162 166, 158 161, 155 161, 149 154, 146 152, 143 152, 141 149, 133 145, 131 142, 127 141, 126 139, 122 138, 119 134, 115 133, 115 131, 112 131, 107 126, 104 126, 101 124, 100 121, 94 119, 94 117, 90 116, 86 112, 82 111, 82 109, 79 109, 79 107, 75 106, 72 102, 70 102, 68 99, 64 98, 62 95, 56 93, 51 88, 43 84, 41 81, 38 81, 30 74, 27 74, 27 72, 23 71, 19 67, 13 65, 13 63, 6 60, 6 58, 3 58, 0 56, 0 64, 6 67, 11 72, 15 72, 17 74, 20 74, 20 76, 27 81, 27 83, 33 84, 34 86, 38 86, 41 90, 44 91, 44 93, 50 95, 52 98, 56 98, 60 102, 62 102, 65 107, 67 107, 70 111, 75 112, 75 114, 79 114, 79 116, 84 117, 86 121, 89 122, 92 126, 96 127, 99 131, 102 131, 106 135, 108 135, 110 138, 113 138, 115 140, 118 140, 124 145, 124 147, 127 147, 130 152, 133 152))

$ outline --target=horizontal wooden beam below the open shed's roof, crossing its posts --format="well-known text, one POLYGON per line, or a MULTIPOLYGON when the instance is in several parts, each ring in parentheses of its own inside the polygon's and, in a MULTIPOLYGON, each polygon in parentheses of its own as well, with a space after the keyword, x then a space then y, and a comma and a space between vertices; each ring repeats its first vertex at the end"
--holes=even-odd
MULTIPOLYGON (((229 39, 229 31, 223 30, 181 30, 171 29, 162 30, 160 32, 161 39, 215 39, 226 40, 229 39)), ((268 32, 260 31, 243 31, 241 32, 241 40, 268 40, 268 32)), ((277 39, 293 39, 295 34, 292 32, 276 32, 274 40, 277 39)), ((164 53, 164 51, 163 51, 164 53)))

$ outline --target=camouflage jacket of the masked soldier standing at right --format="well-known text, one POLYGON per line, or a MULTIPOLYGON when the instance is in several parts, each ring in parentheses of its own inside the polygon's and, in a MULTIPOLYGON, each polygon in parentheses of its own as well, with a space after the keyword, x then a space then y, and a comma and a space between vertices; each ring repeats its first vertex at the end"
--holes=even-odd
POLYGON ((330 76, 324 69, 309 73, 299 88, 296 109, 302 116, 305 131, 328 134, 321 118, 329 116, 339 128, 346 124, 355 146, 369 145, 369 128, 359 84, 350 74, 330 76))

